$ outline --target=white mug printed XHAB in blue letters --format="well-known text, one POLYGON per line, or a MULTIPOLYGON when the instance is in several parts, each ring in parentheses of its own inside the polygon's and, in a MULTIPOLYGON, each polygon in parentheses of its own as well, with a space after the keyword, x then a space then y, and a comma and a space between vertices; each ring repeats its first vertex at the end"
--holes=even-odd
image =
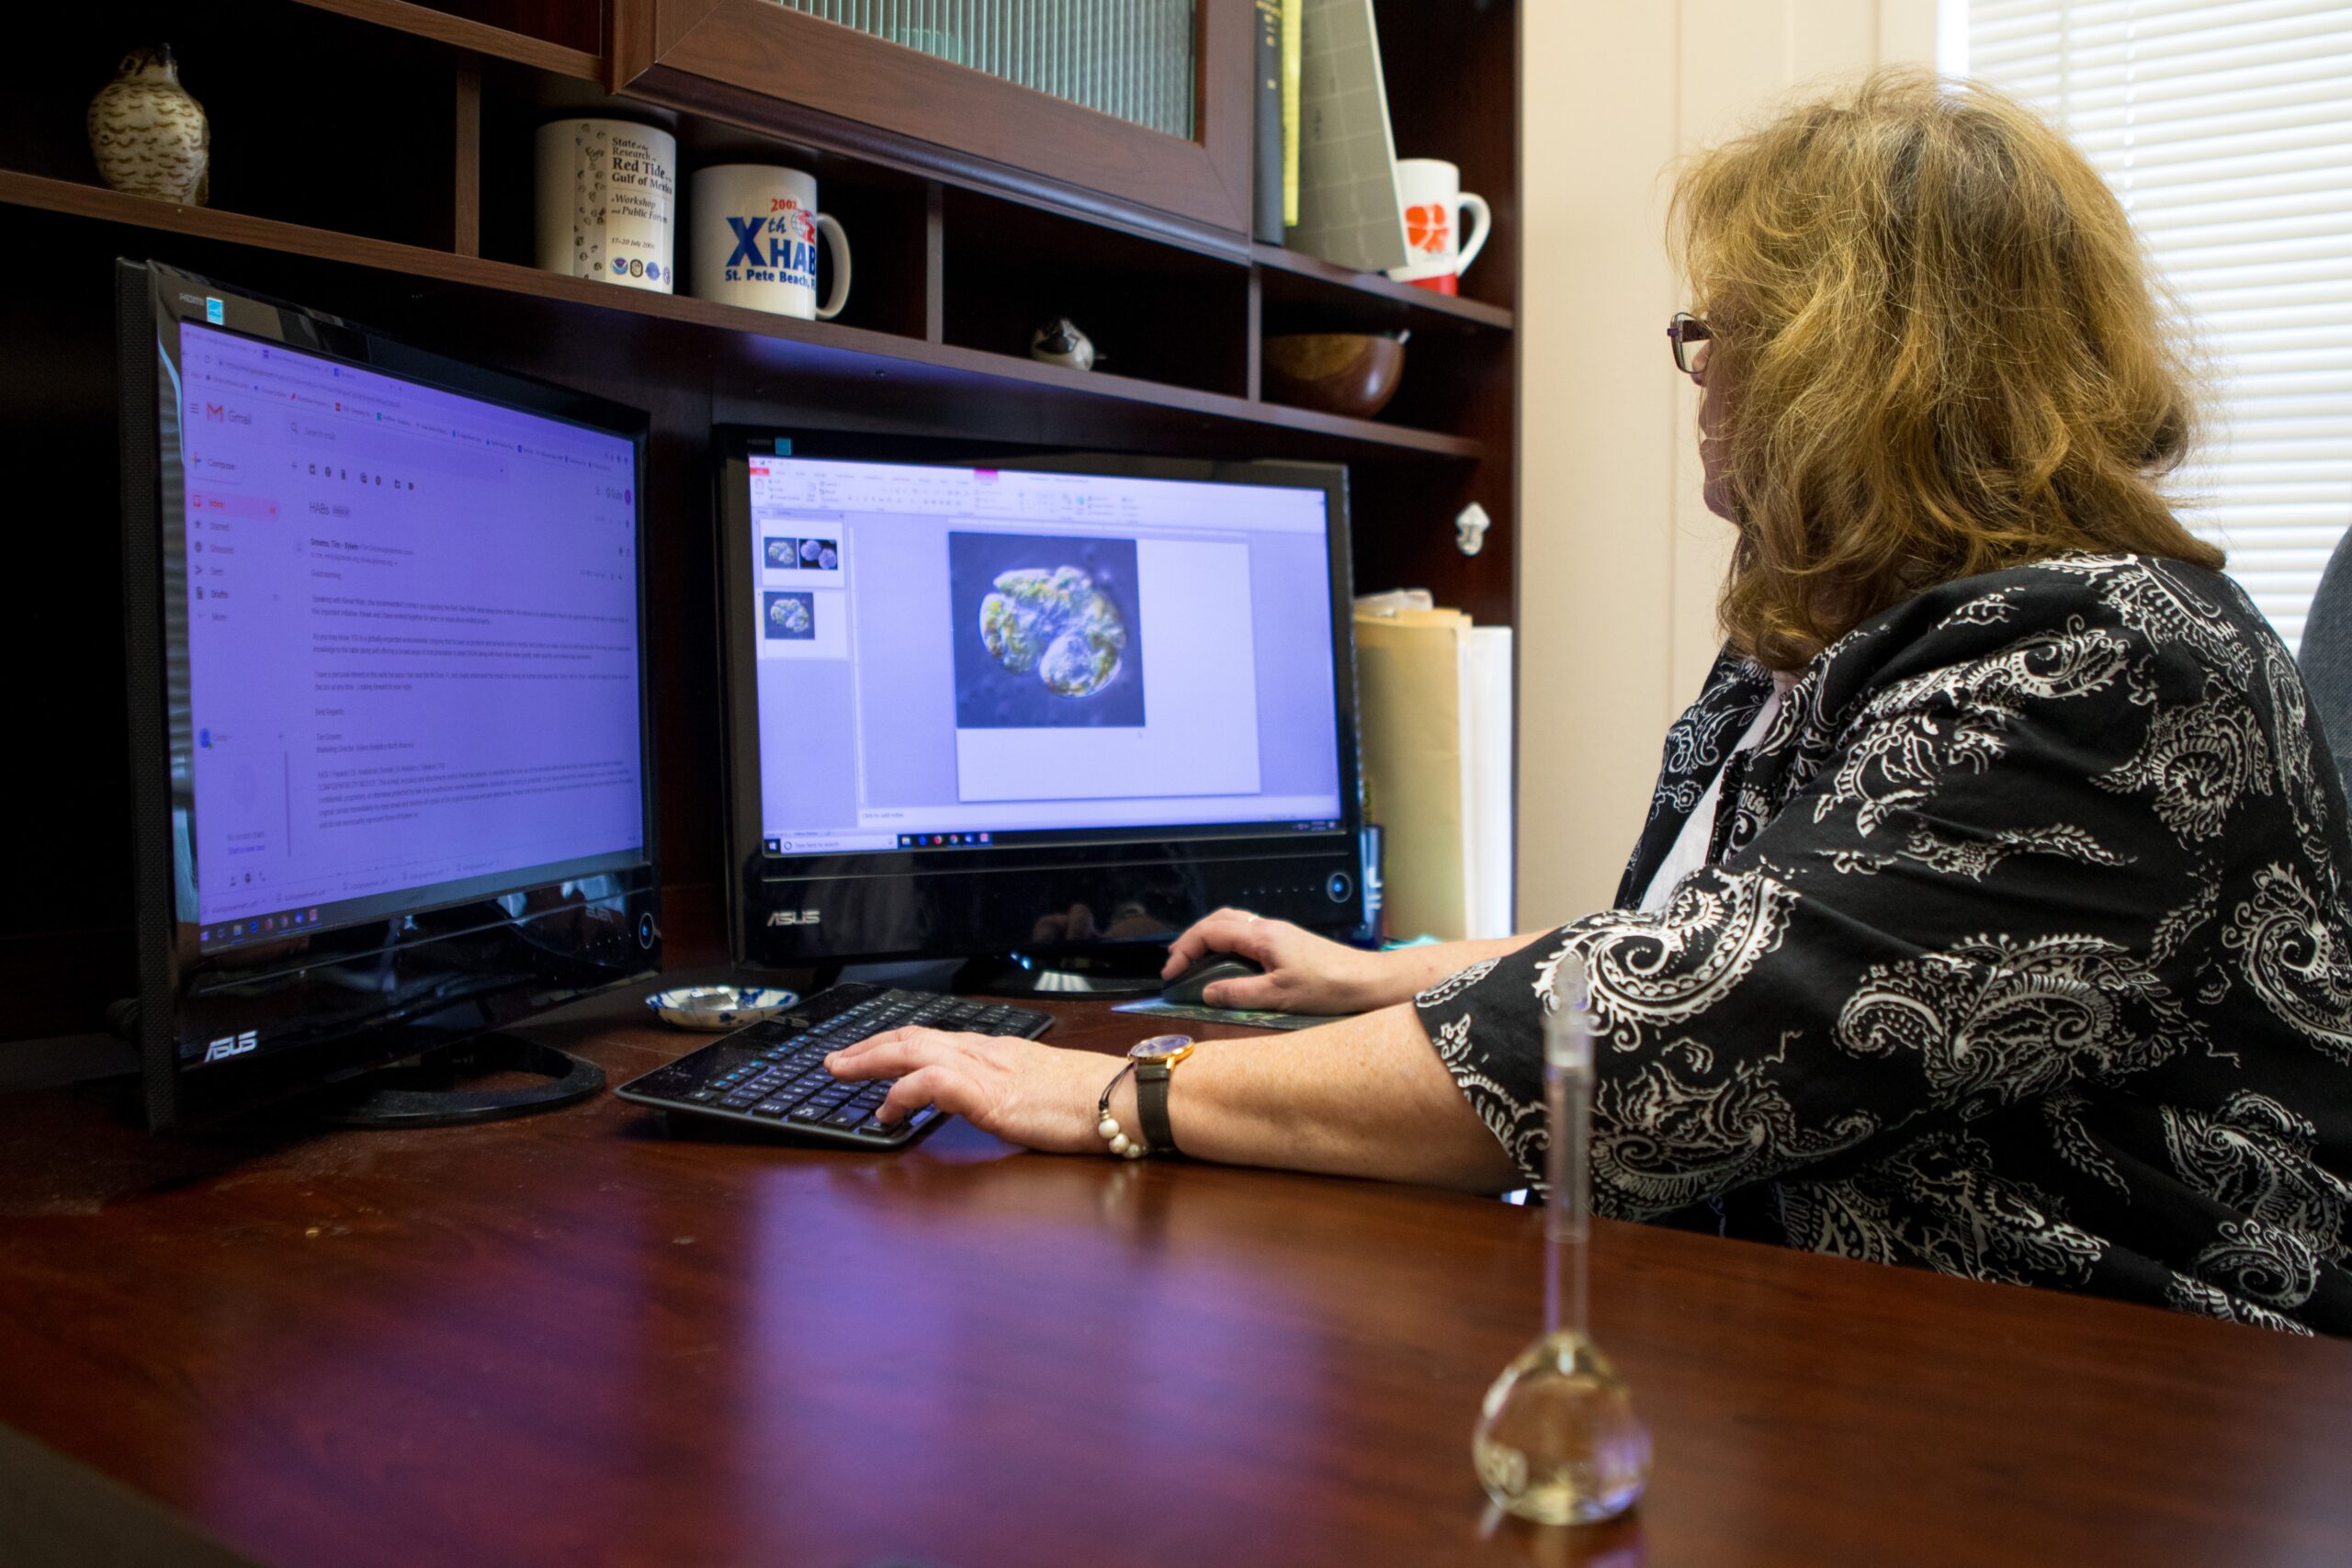
POLYGON ((694 174, 694 296, 830 322, 849 303, 849 235, 816 212, 800 169, 727 162, 694 174), (816 235, 833 249, 833 292, 816 303, 816 235))

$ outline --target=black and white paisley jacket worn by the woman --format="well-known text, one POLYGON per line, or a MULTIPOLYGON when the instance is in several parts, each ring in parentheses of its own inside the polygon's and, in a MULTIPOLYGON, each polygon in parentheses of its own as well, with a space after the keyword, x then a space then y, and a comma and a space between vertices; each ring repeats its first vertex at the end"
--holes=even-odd
POLYGON ((2352 1333, 2345 795, 2227 578, 2060 557, 1802 670, 1719 658, 1618 907, 1418 997, 1541 1180, 1541 1032, 1592 987, 1599 1213, 2352 1333), (1710 865, 1642 891, 1729 766, 1710 865))

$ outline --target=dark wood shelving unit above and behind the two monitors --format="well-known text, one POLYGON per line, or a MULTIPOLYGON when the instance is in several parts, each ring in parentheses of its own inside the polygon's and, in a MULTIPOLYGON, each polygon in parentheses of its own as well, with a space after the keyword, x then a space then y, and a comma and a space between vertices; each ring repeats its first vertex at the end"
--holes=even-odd
MULTIPOLYGON (((127 0, 45 19, 42 71, 0 103, 0 221, 38 287, 0 294, 0 425, 16 473, 115 463, 113 256, 155 256, 635 404, 656 585, 659 788, 673 929, 715 933, 720 715, 710 658, 710 425, 960 440, 993 449, 1289 456, 1355 468, 1355 576, 1425 585, 1482 623, 1517 611, 1517 49, 1510 0, 1376 0, 1399 155, 1454 158, 1494 235, 1454 299, 1247 233, 1251 0, 1200 0, 1190 141, 767 0, 127 0), (172 42, 214 127, 212 207, 106 190, 82 110, 115 59, 172 42), (793 96, 797 94, 797 96, 793 96), (532 129, 564 113, 656 120, 687 174, 783 162, 851 233, 835 322, 560 277, 532 266, 532 129), (1240 183, 1235 183, 1240 181, 1240 183), (1096 371, 1025 357, 1070 315, 1096 371), (1381 418, 1268 402, 1284 331, 1404 331, 1381 418), (1486 548, 1454 548, 1477 501, 1486 548)), ((120 886, 75 860, 120 842, 120 562, 113 496, 42 534, 71 588, 49 639, 75 679, 40 733, 94 757, 42 797, 31 884, 66 889, 0 926, 0 978, 127 992, 120 886), (92 719, 89 715, 101 715, 92 719)), ((54 703, 54 708, 40 708, 54 703)), ((108 851, 120 853, 120 851, 108 851)), ((87 858, 87 856, 85 856, 87 858)), ((89 1027, 61 1001, 56 1030, 89 1027)))

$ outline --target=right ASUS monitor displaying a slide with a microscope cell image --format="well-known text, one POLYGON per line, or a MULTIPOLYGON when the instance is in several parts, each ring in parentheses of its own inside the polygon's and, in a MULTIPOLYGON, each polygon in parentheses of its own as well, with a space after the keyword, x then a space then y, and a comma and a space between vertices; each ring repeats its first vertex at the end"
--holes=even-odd
POLYGON ((720 557, 739 961, 1117 987, 1221 905, 1362 929, 1343 470, 729 428, 720 557))

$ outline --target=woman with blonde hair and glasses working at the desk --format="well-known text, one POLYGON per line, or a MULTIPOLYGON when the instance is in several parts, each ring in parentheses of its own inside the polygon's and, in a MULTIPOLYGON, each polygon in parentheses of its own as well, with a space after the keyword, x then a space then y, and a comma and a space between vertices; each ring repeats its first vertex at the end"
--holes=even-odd
MULTIPOLYGON (((2098 174, 1886 73, 1691 162, 1672 207, 1726 646, 1613 910, 1388 954, 1223 910, 1228 1006, 1155 1154, 1538 1180, 1581 959, 1602 1213, 2352 1333, 2352 842, 2296 663, 2159 489, 2192 376, 2098 174)), ((1112 1065, 901 1032, 835 1058, 1105 1152, 1112 1065)), ((1110 1117, 1138 1128, 1134 1074, 1110 1117)))

